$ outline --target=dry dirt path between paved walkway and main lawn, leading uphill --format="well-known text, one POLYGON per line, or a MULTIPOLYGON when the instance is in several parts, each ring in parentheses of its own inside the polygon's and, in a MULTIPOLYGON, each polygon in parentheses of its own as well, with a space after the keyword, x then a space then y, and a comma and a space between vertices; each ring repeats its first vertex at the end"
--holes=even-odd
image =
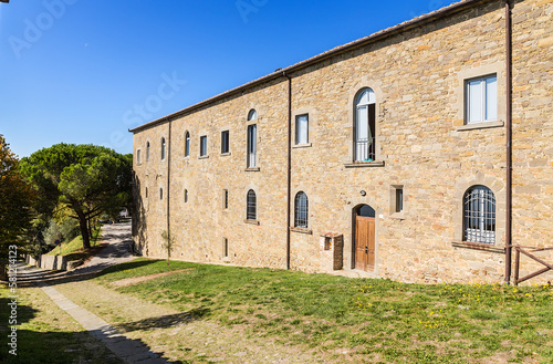
POLYGON ((116 292, 115 285, 92 281, 98 271, 135 259, 129 253, 131 225, 104 227, 103 241, 108 246, 79 269, 63 274, 35 271, 30 280, 41 280, 72 304, 115 327, 125 341, 140 343, 170 362, 327 363, 316 349, 286 345, 275 339, 249 335, 237 326, 195 320, 189 312, 178 312, 116 292))

